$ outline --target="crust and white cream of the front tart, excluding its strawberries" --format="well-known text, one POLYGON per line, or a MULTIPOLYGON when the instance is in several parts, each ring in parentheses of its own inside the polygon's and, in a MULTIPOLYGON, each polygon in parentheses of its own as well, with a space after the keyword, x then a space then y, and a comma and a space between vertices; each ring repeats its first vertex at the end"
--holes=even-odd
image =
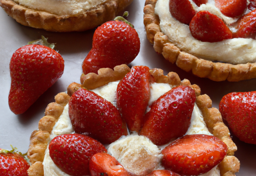
MULTIPOLYGON (((30 158, 32 165, 28 170, 29 176, 66 176, 52 162, 47 146, 55 136, 74 132, 68 116, 68 106, 66 105, 70 96, 81 88, 87 88, 116 105, 115 95, 118 82, 128 72, 130 72, 130 68, 127 65, 120 65, 116 66, 114 70, 102 68, 98 71, 98 74, 82 74, 80 78, 82 84, 72 83, 68 86, 67 94, 62 92, 55 96, 56 102, 47 106, 45 116, 39 122, 39 130, 32 132, 30 137, 28 158, 30 158)), ((206 174, 211 176, 234 176, 240 168, 240 163, 234 156, 237 148, 230 138, 228 128, 222 122, 220 112, 216 108, 211 108, 212 101, 210 98, 207 95, 200 95, 200 88, 197 85, 191 85, 189 80, 181 81, 174 72, 170 72, 167 76, 163 75, 163 70, 156 68, 149 70, 149 72, 150 77, 154 79, 154 82, 150 82, 152 93, 149 104, 152 104, 164 92, 179 85, 189 86, 194 90, 196 103, 192 113, 191 125, 186 133, 214 135, 222 140, 228 146, 227 155, 218 164, 218 167, 214 167, 206 174)), ((152 144, 148 138, 138 136, 136 132, 128 136, 122 136, 107 148, 108 153, 134 175, 142 176, 154 169, 163 169, 161 166, 162 155, 159 148, 152 144)), ((160 148, 164 148, 164 146, 160 146, 160 148)), ((203 174, 203 176, 206 174, 203 174)))

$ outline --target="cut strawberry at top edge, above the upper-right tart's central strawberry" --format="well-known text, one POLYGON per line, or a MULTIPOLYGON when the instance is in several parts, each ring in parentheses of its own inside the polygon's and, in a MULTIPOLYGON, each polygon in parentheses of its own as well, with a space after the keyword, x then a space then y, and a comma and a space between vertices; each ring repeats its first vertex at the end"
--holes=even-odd
POLYGON ((235 18, 247 7, 247 0, 215 0, 215 6, 222 14, 235 18))

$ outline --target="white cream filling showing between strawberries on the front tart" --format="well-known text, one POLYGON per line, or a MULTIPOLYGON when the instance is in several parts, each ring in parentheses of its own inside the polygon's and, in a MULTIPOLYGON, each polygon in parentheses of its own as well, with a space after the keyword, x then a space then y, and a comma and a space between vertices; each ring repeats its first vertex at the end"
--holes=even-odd
MULTIPOLYGON (((109 84, 102 86, 100 88, 96 88, 92 90, 93 92, 100 95, 102 98, 105 98, 106 100, 110 101, 114 106, 116 106, 116 89, 118 86, 119 81, 116 82, 110 82, 109 84)), ((160 96, 162 96, 165 92, 168 92, 171 90, 172 87, 169 84, 158 84, 153 83, 150 84, 150 100, 149 100, 149 106, 157 100, 160 96)), ((149 111, 150 108, 148 107, 147 110, 149 111)), ((68 104, 65 106, 63 113, 61 114, 60 118, 54 125, 52 132, 50 134, 50 140, 52 140, 55 136, 61 135, 61 134, 72 134, 74 133, 74 130, 72 128, 72 124, 70 122, 70 118, 68 115, 68 104)), ((200 112, 198 106, 195 104, 194 110, 192 112, 191 117, 191 124, 188 128, 188 131, 186 134, 208 134, 212 135, 208 129, 206 128, 206 124, 203 120, 202 113, 200 112)), ((156 169, 164 169, 160 165, 160 160, 162 158, 162 154, 160 153, 159 149, 164 148, 166 145, 163 146, 156 146, 154 145, 148 138, 144 136, 138 136, 138 134, 132 134, 129 136, 122 136, 119 140, 113 142, 109 146, 106 146, 108 153, 113 155, 127 170, 129 168, 137 167, 133 170, 136 172, 139 172, 140 169, 143 168, 143 166, 147 165, 151 168, 156 169), (132 145, 136 150, 129 150, 129 146, 132 145), (120 150, 122 149, 122 150, 120 150), (151 162, 148 160, 146 163, 138 164, 138 163, 129 163, 128 161, 131 160, 129 157, 131 154, 136 156, 138 153, 143 153, 143 155, 148 155, 151 157, 151 162), (152 162, 152 160, 154 160, 152 162), (157 163, 157 164, 156 164, 157 163)), ((134 158, 133 158, 134 159, 134 158)), ((138 156, 137 161, 143 159, 143 157, 138 156)), ((135 162, 135 161, 134 161, 135 162)), ((46 153, 44 156, 44 176, 69 176, 68 174, 62 172, 58 166, 54 164, 52 159, 49 156, 49 149, 47 147, 46 153)), ((202 174, 202 176, 220 176, 220 172, 217 167, 213 168, 206 174, 202 174)))

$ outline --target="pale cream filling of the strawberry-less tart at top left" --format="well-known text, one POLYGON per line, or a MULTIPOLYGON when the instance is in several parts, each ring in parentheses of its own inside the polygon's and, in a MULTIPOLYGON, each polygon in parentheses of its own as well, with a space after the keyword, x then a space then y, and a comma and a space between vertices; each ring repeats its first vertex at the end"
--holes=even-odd
POLYGON ((103 4, 108 0, 14 0, 17 4, 56 15, 72 16, 103 4))

